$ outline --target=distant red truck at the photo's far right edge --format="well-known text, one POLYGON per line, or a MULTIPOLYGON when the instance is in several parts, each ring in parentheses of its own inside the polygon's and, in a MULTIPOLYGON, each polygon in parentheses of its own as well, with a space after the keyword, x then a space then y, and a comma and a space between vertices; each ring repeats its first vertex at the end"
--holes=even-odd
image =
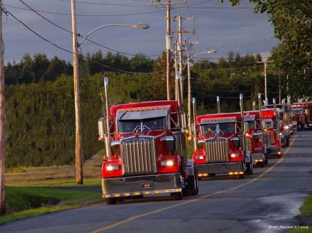
POLYGON ((312 102, 297 102, 291 104, 293 121, 297 122, 297 131, 309 129, 312 123, 312 102))

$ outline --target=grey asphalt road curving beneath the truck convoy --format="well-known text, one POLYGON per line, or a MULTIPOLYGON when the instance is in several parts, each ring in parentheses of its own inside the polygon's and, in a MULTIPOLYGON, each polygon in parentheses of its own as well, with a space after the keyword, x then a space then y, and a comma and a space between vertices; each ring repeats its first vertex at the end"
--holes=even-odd
MULTIPOLYGON (((244 179, 200 181, 198 196, 171 201, 150 196, 116 205, 98 203, 0 226, 7 233, 281 233, 298 227, 312 194, 312 131, 295 132, 282 158, 270 158, 244 179)), ((101 194, 100 194, 101 195, 101 194)), ((306 227, 306 226, 303 226, 306 227)), ((312 231, 312 230, 311 230, 312 231)))

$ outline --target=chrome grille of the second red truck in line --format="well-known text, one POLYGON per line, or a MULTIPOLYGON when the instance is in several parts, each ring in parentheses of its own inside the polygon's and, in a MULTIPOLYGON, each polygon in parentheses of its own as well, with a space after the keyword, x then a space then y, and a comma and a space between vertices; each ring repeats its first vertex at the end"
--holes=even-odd
POLYGON ((205 142, 207 162, 228 162, 228 142, 225 139, 205 142))

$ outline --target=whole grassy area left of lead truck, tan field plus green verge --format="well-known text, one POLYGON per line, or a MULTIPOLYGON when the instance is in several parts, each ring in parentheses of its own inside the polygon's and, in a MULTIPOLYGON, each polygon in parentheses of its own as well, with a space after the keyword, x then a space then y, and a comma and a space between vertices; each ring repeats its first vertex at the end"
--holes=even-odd
POLYGON ((6 173, 6 214, 0 224, 103 201, 101 155, 84 162, 83 185, 74 166, 17 167, 6 173))

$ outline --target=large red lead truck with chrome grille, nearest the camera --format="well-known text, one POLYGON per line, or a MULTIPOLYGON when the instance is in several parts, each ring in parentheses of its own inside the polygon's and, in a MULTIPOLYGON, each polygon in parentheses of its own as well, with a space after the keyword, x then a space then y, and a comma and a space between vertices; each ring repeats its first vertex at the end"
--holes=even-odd
POLYGON ((101 178, 106 203, 148 194, 170 194, 173 200, 197 195, 197 168, 187 159, 187 125, 180 102, 109 107, 107 77, 104 84, 106 117, 98 120, 98 139, 105 143, 101 178))

